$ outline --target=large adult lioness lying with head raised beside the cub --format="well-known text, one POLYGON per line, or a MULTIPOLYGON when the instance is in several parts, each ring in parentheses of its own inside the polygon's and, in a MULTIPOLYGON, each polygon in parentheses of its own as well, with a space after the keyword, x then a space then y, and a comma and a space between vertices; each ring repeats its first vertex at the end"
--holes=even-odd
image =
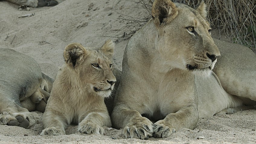
POLYGON ((220 57, 205 8, 203 1, 193 9, 155 0, 152 19, 131 37, 111 115, 126 138, 168 137, 181 128, 194 129, 198 117, 232 113, 238 109, 226 108, 256 100, 255 54, 244 47, 233 52, 239 45, 222 48, 216 40, 229 53, 220 57), (220 80, 212 71, 217 57, 224 59, 215 71, 220 80))

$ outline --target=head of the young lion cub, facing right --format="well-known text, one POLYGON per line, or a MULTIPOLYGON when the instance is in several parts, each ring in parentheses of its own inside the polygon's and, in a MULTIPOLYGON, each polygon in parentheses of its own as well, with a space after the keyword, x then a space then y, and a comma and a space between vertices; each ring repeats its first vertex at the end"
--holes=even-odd
POLYGON ((77 83, 83 89, 108 97, 116 82, 111 70, 113 53, 114 43, 107 40, 100 48, 85 48, 79 43, 71 43, 66 46, 63 56, 67 67, 78 75, 77 83))

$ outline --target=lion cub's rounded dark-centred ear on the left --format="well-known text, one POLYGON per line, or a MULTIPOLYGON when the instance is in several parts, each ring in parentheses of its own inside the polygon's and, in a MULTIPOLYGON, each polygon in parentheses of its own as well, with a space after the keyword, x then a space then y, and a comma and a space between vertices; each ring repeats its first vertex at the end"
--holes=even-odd
POLYGON ((74 68, 85 56, 85 48, 80 43, 70 43, 66 46, 63 56, 67 65, 74 68))

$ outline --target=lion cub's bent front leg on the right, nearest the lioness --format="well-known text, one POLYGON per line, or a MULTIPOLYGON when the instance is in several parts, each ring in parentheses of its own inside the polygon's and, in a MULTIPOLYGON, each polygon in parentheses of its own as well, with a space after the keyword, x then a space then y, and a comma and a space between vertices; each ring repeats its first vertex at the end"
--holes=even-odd
POLYGON ((79 118, 78 131, 86 134, 101 134, 104 129, 102 126, 111 127, 110 116, 107 109, 91 110, 79 118))

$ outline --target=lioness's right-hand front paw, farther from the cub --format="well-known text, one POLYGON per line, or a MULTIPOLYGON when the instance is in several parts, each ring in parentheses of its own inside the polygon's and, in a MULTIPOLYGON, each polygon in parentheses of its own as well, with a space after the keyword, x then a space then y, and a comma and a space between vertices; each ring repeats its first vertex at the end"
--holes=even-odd
POLYGON ((175 129, 170 129, 169 126, 165 126, 164 124, 153 124, 153 137, 155 138, 168 137, 175 132, 175 129))

